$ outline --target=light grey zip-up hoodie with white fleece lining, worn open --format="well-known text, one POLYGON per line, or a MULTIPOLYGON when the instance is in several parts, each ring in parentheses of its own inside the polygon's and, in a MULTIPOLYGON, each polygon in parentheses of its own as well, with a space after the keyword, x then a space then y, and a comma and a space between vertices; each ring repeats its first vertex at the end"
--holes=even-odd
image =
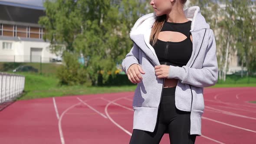
MULTIPOLYGON (((170 65, 167 79, 178 79, 175 106, 181 111, 191 111, 190 134, 200 136, 201 116, 204 111, 203 87, 215 85, 218 79, 216 43, 213 30, 201 15, 199 7, 189 7, 184 13, 186 18, 192 21, 192 55, 187 65, 170 65)), ((158 79, 155 75, 154 66, 160 63, 149 43, 155 18, 155 13, 149 13, 136 21, 130 32, 134 45, 121 63, 125 72, 135 63, 141 65, 145 72, 141 74, 143 79, 137 84, 133 97, 133 129, 150 132, 153 132, 156 126, 164 83, 164 79, 158 79)))

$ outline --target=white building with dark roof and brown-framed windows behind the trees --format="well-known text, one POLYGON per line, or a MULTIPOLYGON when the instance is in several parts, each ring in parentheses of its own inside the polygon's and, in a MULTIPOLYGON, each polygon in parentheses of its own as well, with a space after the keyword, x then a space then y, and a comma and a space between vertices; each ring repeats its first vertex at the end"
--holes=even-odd
POLYGON ((50 62, 57 56, 38 24, 43 7, 0 1, 0 62, 50 62))

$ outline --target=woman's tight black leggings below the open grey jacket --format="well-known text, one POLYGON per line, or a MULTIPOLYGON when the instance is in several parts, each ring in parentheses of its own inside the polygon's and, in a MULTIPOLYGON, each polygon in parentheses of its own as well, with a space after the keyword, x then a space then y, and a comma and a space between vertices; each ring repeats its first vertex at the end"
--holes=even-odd
POLYGON ((159 144, 165 133, 171 144, 194 144, 196 134, 190 135, 190 111, 180 111, 175 107, 176 87, 164 88, 158 120, 153 132, 133 129, 129 144, 159 144))

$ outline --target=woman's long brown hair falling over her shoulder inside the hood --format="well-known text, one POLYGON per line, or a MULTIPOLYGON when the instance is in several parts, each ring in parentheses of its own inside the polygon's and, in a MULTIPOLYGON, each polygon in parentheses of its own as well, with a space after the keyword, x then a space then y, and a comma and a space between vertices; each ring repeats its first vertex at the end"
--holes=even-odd
MULTIPOLYGON (((187 2, 187 0, 181 0, 182 4, 185 4, 186 2, 187 2)), ((151 35, 150 35, 150 41, 153 42, 153 46, 158 39, 158 35, 164 25, 165 20, 166 20, 166 14, 156 17, 156 20, 154 22, 154 25, 152 26, 152 31, 151 31, 151 35)))

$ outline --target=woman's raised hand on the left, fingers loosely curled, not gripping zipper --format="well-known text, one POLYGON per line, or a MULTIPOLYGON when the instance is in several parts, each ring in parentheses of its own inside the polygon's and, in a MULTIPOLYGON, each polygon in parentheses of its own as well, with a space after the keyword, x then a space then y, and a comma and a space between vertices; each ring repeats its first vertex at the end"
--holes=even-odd
POLYGON ((138 64, 132 64, 126 72, 128 79, 134 84, 141 82, 141 73, 145 74, 145 72, 141 69, 141 65, 138 64))

